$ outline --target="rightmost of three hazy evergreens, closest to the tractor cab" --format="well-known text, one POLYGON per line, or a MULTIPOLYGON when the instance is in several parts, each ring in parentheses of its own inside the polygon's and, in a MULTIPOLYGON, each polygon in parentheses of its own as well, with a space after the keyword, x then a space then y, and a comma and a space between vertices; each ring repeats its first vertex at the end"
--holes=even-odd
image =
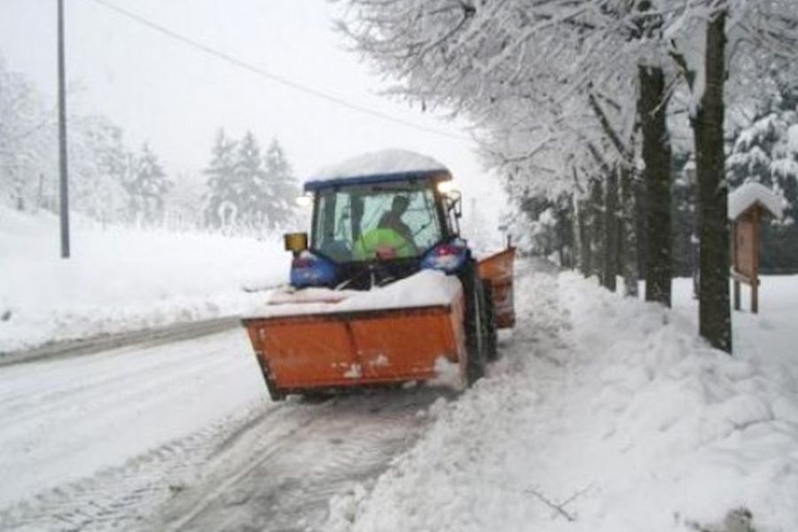
POLYGON ((300 189, 286 159, 286 153, 276 138, 271 141, 263 162, 266 172, 266 218, 270 229, 275 229, 292 220, 293 202, 300 189))

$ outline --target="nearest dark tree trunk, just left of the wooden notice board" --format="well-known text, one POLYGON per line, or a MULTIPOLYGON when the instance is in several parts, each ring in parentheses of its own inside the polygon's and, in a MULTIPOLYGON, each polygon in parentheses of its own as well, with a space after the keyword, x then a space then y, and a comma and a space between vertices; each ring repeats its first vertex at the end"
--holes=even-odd
POLYGON ((724 172, 726 12, 707 27, 706 89, 693 121, 699 184, 699 330, 713 347, 732 352, 729 309, 728 191, 724 172))

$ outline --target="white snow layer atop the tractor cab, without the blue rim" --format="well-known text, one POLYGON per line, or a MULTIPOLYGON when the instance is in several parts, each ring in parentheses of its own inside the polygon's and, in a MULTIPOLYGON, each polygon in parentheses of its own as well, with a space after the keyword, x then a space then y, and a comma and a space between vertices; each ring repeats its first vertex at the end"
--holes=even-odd
POLYGON ((439 161, 421 153, 406 150, 383 150, 364 153, 339 164, 319 169, 312 179, 325 180, 340 177, 398 174, 424 170, 448 171, 439 161))

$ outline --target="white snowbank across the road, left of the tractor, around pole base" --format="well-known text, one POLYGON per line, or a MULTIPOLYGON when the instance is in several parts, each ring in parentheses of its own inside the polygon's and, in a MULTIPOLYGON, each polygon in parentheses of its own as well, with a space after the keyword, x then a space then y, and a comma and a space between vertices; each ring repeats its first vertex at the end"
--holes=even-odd
POLYGON ((236 314, 261 294, 242 285, 285 282, 277 240, 137 231, 75 218, 72 258, 59 258, 49 213, 0 207, 0 353, 236 314))

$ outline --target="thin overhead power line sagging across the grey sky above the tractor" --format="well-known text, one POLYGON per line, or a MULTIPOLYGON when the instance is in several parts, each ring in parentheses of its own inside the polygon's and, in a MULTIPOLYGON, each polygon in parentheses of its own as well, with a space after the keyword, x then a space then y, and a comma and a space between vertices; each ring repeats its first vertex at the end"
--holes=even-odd
POLYGON ((313 89, 312 87, 308 87, 307 85, 303 85, 303 84, 298 83, 298 82, 293 82, 293 81, 291 81, 291 80, 289 80, 289 79, 287 79, 287 78, 285 78, 283 76, 280 76, 278 74, 272 74, 272 73, 260 68, 259 66, 254 66, 251 63, 247 63, 243 59, 238 59, 238 58, 236 58, 234 56, 231 56, 228 53, 225 53, 223 51, 219 51, 219 50, 217 50, 217 49, 215 49, 215 48, 213 48, 211 46, 208 46, 205 43, 200 43, 200 41, 196 41, 196 40, 192 39, 191 37, 187 37, 185 35, 178 34, 177 32, 169 29, 168 27, 161 26, 160 24, 158 24, 156 22, 153 22, 152 20, 145 19, 144 17, 142 17, 140 15, 137 15, 134 12, 129 12, 129 11, 125 10, 125 9, 122 9, 118 5, 111 4, 110 2, 106 2, 106 0, 92 0, 92 2, 94 2, 95 4, 98 4, 98 5, 102 6, 102 7, 105 7, 108 10, 116 12, 117 14, 119 14, 119 15, 121 15, 121 16, 129 19, 129 20, 133 20, 133 21, 137 22, 138 24, 141 24, 142 26, 149 27, 150 29, 160 33, 161 35, 166 35, 166 36, 168 36, 171 39, 179 41, 180 43, 184 43, 184 44, 186 44, 186 45, 188 45, 188 46, 190 46, 190 47, 192 47, 192 48, 194 48, 196 50, 202 51, 203 53, 205 53, 207 55, 213 56, 216 59, 222 59, 223 61, 226 61, 226 62, 230 63, 233 66, 238 66, 239 68, 242 68, 242 69, 244 69, 244 70, 246 70, 246 71, 248 71, 248 72, 250 72, 252 74, 256 74, 256 75, 258 75, 258 76, 260 76, 260 77, 262 77, 264 79, 267 79, 270 82, 276 82, 276 83, 284 85, 284 86, 286 86, 286 87, 288 87, 290 89, 298 90, 300 92, 304 92, 305 94, 309 94, 310 96, 314 96, 316 98, 325 99, 325 100, 327 100, 329 102, 332 102, 333 104, 337 104, 339 106, 347 107, 348 109, 351 109, 351 110, 356 111, 358 113, 369 114, 369 115, 377 117, 379 119, 382 119, 382 120, 385 120, 385 121, 391 121, 391 122, 403 125, 403 126, 408 127, 408 128, 419 129, 421 131, 426 131, 427 133, 433 133, 435 135, 440 135, 442 137, 454 138, 456 140, 465 140, 465 141, 473 140, 470 137, 465 137, 465 136, 462 136, 462 135, 456 135, 456 134, 448 133, 446 131, 442 131, 441 129, 428 128, 426 126, 422 126, 420 124, 417 124, 417 123, 414 123, 414 122, 411 122, 411 121, 405 121, 405 120, 403 120, 401 118, 396 118, 395 116, 391 116, 390 114, 381 113, 381 112, 376 111, 374 109, 370 109, 369 107, 364 107, 364 106, 360 106, 358 104, 349 102, 349 101, 347 101, 347 100, 345 100, 343 98, 339 98, 337 96, 334 96, 334 95, 329 94, 327 92, 324 92, 322 90, 313 89))

